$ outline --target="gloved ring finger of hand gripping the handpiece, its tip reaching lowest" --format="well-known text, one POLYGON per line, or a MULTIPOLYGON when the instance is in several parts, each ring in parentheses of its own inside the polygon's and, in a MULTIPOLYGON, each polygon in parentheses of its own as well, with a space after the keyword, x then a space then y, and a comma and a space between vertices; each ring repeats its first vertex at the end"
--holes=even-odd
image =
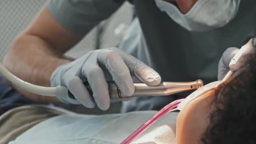
POLYGON ((85 66, 85 68, 86 70, 83 70, 83 73, 91 86, 94 101, 100 109, 107 110, 110 106, 110 97, 104 72, 99 66, 85 66))

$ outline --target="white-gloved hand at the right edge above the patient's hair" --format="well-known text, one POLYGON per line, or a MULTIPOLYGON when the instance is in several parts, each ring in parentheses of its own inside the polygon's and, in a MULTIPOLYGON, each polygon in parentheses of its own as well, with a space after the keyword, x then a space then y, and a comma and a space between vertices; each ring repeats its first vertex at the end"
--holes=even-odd
POLYGON ((242 48, 228 48, 222 55, 218 66, 218 80, 222 80, 229 70, 242 68, 248 61, 248 55, 255 52, 256 38, 248 41, 242 48))

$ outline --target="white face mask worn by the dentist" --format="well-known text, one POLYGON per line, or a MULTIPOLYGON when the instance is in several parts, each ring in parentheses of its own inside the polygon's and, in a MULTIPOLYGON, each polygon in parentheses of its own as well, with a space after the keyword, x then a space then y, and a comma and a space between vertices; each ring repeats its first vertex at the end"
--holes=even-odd
POLYGON ((185 29, 206 31, 229 23, 238 11, 240 0, 198 0, 186 14, 182 14, 175 5, 166 1, 155 0, 155 3, 185 29))

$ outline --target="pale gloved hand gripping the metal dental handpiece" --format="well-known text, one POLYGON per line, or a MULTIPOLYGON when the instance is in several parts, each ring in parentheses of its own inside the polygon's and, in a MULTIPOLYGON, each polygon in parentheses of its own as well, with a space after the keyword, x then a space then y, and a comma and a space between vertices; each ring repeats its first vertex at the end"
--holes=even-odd
POLYGON ((99 49, 56 68, 51 76, 51 86, 63 85, 77 100, 67 98, 61 101, 71 104, 83 104, 93 108, 95 103, 102 110, 110 106, 107 80, 114 80, 120 91, 131 96, 134 85, 131 75, 135 75, 147 85, 158 85, 160 75, 142 61, 117 48, 99 49), (88 81, 93 91, 91 96, 83 85, 88 81))

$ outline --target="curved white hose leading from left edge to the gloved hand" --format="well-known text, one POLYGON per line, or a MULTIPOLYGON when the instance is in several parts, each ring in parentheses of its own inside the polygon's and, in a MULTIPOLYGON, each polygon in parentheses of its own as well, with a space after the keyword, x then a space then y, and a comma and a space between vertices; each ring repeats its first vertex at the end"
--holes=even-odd
POLYGON ((68 96, 68 90, 64 86, 57 87, 44 87, 39 85, 33 85, 21 80, 19 77, 16 77, 11 72, 9 72, 2 64, 0 64, 0 73, 9 80, 13 85, 16 85, 19 88, 22 88, 31 93, 35 93, 42 96, 68 96))

